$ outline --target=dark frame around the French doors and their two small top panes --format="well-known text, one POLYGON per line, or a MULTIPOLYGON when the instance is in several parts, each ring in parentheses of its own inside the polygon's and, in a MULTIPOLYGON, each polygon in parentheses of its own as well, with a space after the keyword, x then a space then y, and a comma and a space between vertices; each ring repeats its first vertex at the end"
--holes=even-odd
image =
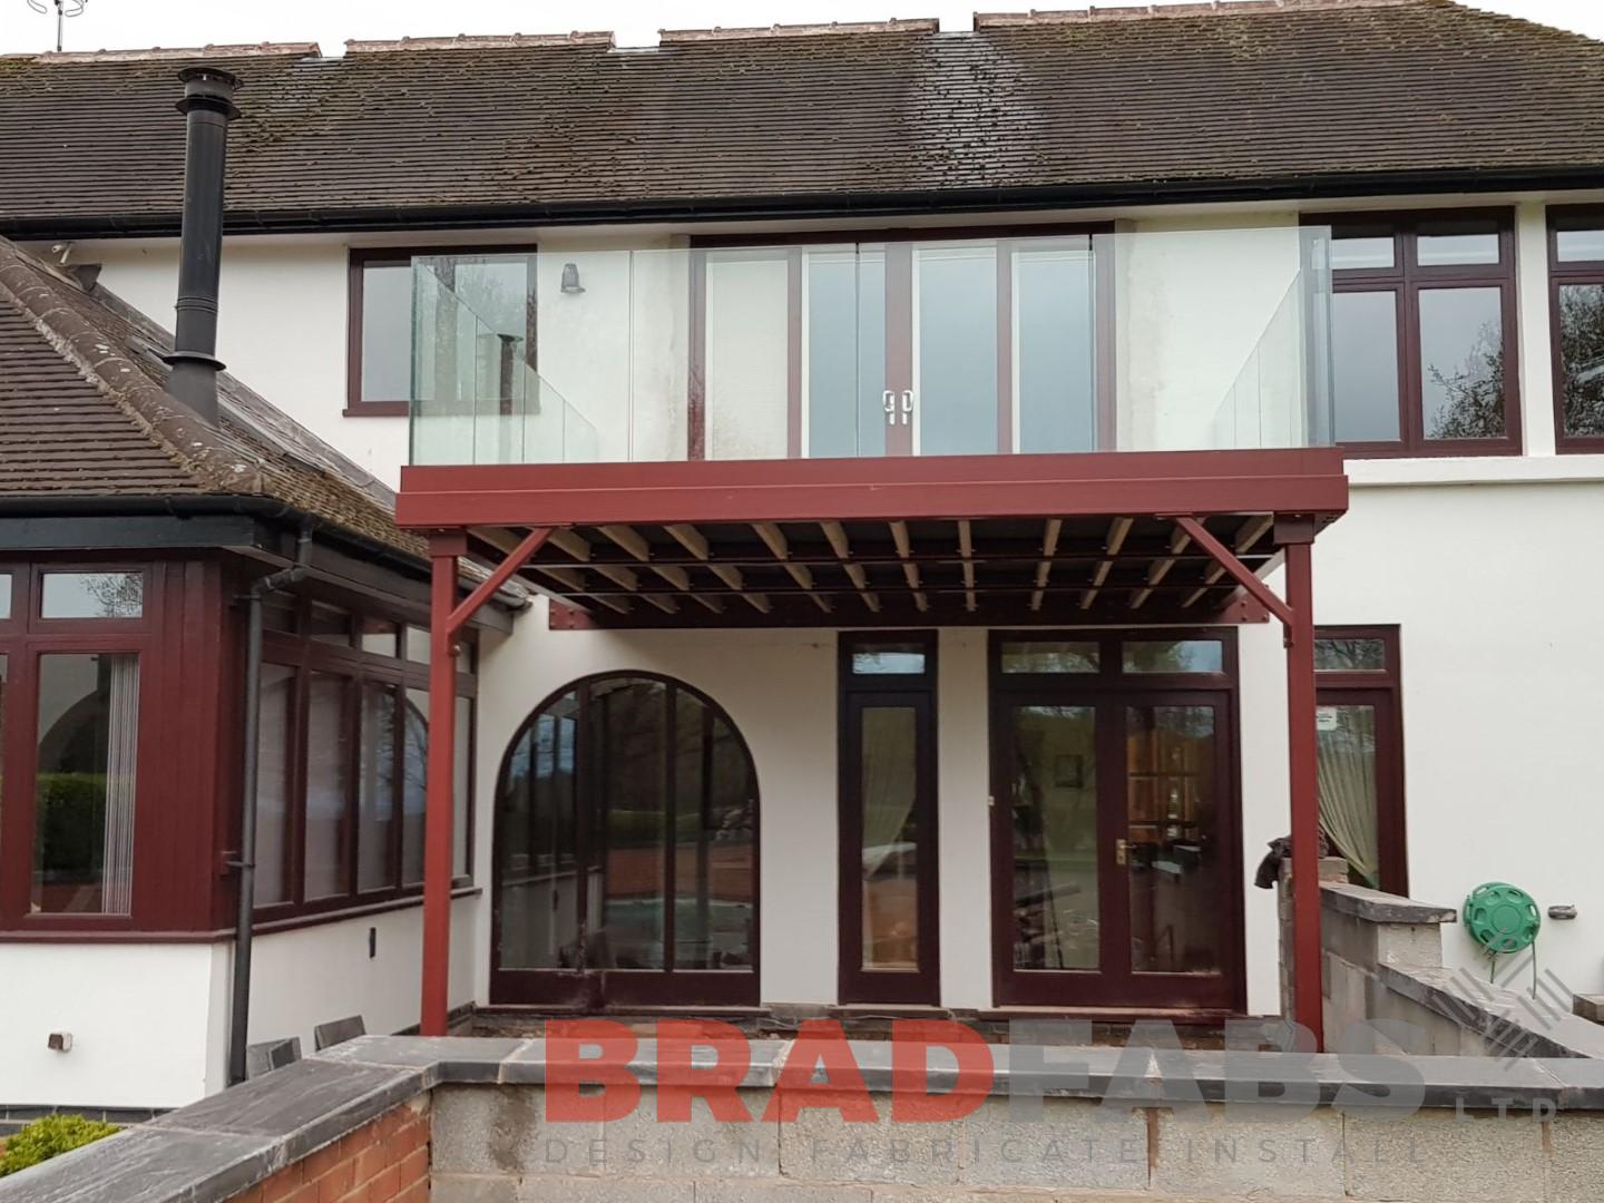
POLYGON ((1221 940, 1221 972, 1217 975, 1137 974, 1123 964, 1104 964, 1096 970, 1015 970, 1014 954, 1014 829, 1012 786, 1009 765, 1003 755, 1012 746, 1007 711, 1015 704, 1086 706, 1097 712, 1096 739, 1099 760, 1097 797, 1097 884, 1104 951, 1129 948, 1129 877, 1116 863, 1115 828, 1126 823, 1124 773, 1126 746, 1120 739, 1123 722, 1113 722, 1113 711, 1124 701, 1158 706, 1214 706, 1219 712, 1214 765, 1216 788, 1221 791, 1217 840, 1224 849, 1221 881, 1243 881, 1241 866, 1241 739, 1240 739, 1240 672, 1235 627, 1131 627, 1124 630, 993 630, 986 651, 990 682, 990 749, 991 749, 991 991, 996 1006, 1060 1004, 1065 991, 1075 993, 1083 1007, 1163 1007, 1192 1014, 1241 1014, 1246 1007, 1246 959, 1243 946, 1241 890, 1227 890, 1221 898, 1217 919, 1221 940), (1219 672, 1128 672, 1121 664, 1121 648, 1131 642, 1150 640, 1214 640, 1221 643, 1219 672), (1096 672, 1003 672, 1004 643, 1075 642, 1096 643, 1096 672), (1107 767, 1107 770, 1104 770, 1107 767), (1120 807, 1112 794, 1120 794, 1120 807), (1118 810, 1120 821, 1113 821, 1118 810))

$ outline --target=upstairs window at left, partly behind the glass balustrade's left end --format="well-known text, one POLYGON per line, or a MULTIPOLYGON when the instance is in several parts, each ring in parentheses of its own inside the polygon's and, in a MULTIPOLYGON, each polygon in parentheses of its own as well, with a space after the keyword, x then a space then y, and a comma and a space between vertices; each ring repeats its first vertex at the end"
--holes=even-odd
POLYGON ((346 415, 521 398, 534 380, 534 253, 353 250, 346 415))

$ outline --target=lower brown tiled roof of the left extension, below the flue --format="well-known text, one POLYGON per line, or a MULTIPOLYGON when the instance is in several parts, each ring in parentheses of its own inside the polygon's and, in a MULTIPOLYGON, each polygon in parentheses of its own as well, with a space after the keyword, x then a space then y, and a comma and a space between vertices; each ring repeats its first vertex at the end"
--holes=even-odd
POLYGON ((395 497, 239 380, 212 428, 162 385, 168 335, 0 237, 0 502, 265 497, 415 557, 395 497))

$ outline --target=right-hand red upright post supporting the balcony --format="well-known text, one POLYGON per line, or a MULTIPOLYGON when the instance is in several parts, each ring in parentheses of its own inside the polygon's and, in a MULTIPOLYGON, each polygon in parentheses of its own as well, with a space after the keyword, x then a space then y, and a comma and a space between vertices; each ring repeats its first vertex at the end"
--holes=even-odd
POLYGON ((1286 549, 1286 760, 1293 810, 1293 1011, 1325 1047, 1320 1004, 1320 781, 1315 765, 1314 531, 1286 549))

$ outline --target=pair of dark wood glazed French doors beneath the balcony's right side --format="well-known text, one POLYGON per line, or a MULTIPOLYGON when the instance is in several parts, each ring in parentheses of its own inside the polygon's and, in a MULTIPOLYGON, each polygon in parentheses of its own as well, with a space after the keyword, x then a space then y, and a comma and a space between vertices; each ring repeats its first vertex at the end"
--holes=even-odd
POLYGON ((1224 690, 994 695, 999 1006, 1241 1006, 1230 722, 1224 690))

